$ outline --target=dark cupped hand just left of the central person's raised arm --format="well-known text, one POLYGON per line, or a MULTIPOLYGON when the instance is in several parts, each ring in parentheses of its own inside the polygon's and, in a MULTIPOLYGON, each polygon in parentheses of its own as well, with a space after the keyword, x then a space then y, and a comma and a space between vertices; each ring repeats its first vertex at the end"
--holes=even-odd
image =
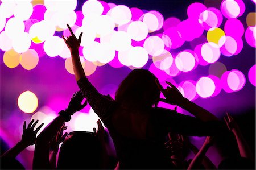
POLYGON ((69 102, 67 111, 70 114, 73 114, 76 111, 82 110, 87 105, 87 101, 85 101, 84 104, 81 103, 83 99, 84 99, 84 96, 82 95, 81 91, 74 93, 69 102))

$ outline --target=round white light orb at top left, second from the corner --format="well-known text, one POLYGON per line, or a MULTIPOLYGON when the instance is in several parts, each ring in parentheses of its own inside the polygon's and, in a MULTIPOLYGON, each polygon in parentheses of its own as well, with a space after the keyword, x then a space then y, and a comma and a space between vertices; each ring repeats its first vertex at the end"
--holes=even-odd
POLYGON ((14 8, 14 16, 20 20, 27 20, 33 13, 33 6, 30 2, 18 3, 14 8))

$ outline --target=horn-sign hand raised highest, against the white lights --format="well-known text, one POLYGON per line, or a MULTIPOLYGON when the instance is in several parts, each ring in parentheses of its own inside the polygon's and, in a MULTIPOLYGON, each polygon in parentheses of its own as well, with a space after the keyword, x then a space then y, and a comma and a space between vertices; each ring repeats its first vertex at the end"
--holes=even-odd
POLYGON ((64 38, 64 36, 62 36, 62 38, 64 39, 65 43, 67 44, 68 48, 72 51, 72 50, 77 50, 80 47, 81 44, 81 39, 82 39, 82 32, 79 35, 79 39, 76 38, 75 34, 73 33, 73 31, 71 30, 71 27, 69 27, 69 25, 67 24, 69 31, 71 32, 71 36, 69 36, 67 39, 64 38))

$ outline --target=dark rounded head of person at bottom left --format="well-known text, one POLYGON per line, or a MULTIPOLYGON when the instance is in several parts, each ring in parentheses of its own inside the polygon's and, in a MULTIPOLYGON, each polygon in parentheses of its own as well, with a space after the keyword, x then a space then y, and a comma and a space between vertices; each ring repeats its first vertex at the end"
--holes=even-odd
POLYGON ((57 169, 100 169, 102 146, 92 132, 71 132, 60 148, 57 169))

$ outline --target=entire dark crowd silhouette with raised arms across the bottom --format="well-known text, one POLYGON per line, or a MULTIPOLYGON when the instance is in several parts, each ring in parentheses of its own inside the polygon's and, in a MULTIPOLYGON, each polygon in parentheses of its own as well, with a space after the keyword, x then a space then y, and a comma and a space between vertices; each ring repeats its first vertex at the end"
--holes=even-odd
POLYGON ((32 120, 27 127, 24 122, 20 142, 1 153, 1 169, 24 169, 15 157, 32 144, 35 144, 33 169, 255 169, 249 145, 230 114, 226 114, 225 121, 218 119, 184 98, 170 82, 166 82, 168 87, 164 89, 154 74, 145 69, 131 71, 119 85, 115 99, 100 94, 86 78, 80 63, 82 33, 77 39, 68 28, 71 36, 63 39, 71 51, 80 91, 73 94, 67 109, 60 111, 37 138, 43 124, 35 129, 38 120, 32 120), (160 98, 160 93, 164 98, 160 98), (84 98, 86 101, 82 103, 84 98), (177 113, 176 109, 160 108, 159 102, 181 107, 194 117, 177 113), (100 117, 98 130, 63 134, 67 128, 65 122, 88 104, 100 117), (111 161, 101 121, 113 139, 117 161, 111 161), (240 156, 228 157, 216 167, 205 154, 218 136, 228 132, 236 138, 240 156), (198 149, 188 136, 207 138, 198 149), (189 151, 195 157, 185 160, 189 151))

